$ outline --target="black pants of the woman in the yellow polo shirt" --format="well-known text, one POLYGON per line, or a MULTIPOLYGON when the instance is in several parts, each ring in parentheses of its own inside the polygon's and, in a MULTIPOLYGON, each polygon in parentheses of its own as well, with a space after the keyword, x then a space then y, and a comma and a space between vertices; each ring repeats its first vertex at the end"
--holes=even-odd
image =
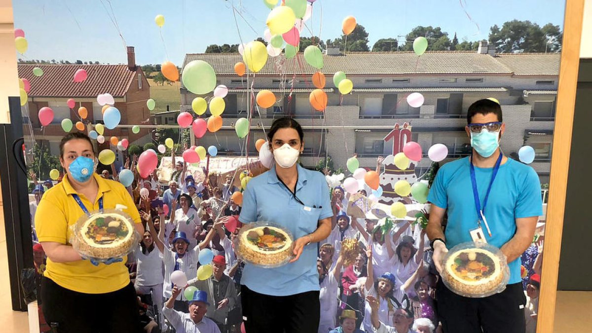
POLYGON ((43 315, 56 333, 141 332, 136 289, 128 284, 105 294, 66 289, 44 277, 41 280, 43 315))

